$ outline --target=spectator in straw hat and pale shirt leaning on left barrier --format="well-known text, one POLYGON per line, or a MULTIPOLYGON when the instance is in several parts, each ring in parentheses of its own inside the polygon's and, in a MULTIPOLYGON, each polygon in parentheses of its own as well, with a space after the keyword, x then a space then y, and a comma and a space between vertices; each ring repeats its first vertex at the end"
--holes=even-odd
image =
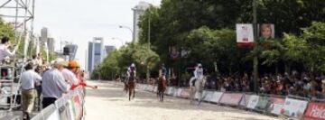
POLYGON ((55 60, 54 69, 50 69, 43 74, 42 77, 42 106, 50 106, 62 97, 63 93, 67 93, 70 85, 64 80, 61 73, 64 66, 68 66, 68 62, 62 59, 55 60))

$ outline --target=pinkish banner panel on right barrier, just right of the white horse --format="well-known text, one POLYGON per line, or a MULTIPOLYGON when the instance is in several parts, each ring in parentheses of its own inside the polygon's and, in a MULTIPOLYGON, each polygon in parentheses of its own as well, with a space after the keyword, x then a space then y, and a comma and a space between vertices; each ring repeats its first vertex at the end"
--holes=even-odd
POLYGON ((238 106, 243 94, 241 93, 224 93, 219 101, 221 104, 238 106))

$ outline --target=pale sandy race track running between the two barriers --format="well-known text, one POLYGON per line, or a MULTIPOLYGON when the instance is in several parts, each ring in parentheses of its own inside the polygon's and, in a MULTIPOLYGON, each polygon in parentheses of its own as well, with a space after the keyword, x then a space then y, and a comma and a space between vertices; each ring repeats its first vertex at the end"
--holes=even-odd
POLYGON ((121 87, 107 82, 88 81, 99 85, 88 89, 86 119, 91 120, 274 120, 228 106, 201 104, 192 106, 188 99, 166 97, 159 102, 153 93, 137 90, 134 101, 128 101, 121 87))

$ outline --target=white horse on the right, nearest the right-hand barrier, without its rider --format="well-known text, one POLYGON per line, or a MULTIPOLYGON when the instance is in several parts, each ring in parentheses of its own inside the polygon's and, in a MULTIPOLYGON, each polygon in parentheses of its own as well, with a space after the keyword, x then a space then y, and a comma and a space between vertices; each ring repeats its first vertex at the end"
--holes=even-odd
POLYGON ((206 77, 198 78, 195 81, 194 86, 192 85, 192 83, 190 83, 190 104, 193 104, 195 95, 198 93, 198 105, 200 105, 200 102, 202 101, 203 88, 205 86, 206 79, 206 77))

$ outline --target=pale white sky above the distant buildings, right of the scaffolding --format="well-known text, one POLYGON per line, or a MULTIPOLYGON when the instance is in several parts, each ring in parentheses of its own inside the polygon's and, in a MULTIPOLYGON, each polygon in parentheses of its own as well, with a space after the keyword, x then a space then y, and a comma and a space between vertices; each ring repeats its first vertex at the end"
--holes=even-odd
POLYGON ((56 40, 57 49, 60 40, 79 45, 77 58, 85 66, 86 49, 93 37, 104 37, 106 45, 119 47, 116 37, 130 42, 132 34, 118 25, 132 28, 133 12, 131 8, 140 1, 160 5, 161 0, 36 0, 35 32, 40 34, 47 27, 56 40))

